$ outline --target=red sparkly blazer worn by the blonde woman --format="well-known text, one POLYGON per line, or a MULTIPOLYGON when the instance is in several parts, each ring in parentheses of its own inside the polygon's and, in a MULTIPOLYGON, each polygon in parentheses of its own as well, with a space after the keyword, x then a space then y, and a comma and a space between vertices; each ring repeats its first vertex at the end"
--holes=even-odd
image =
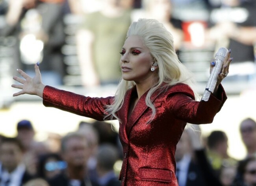
MULTIPOLYGON (((128 118, 129 103, 134 94, 135 87, 127 91, 122 108, 117 111, 123 147, 122 186, 178 186, 174 159, 176 144, 187 122, 208 124, 213 121, 226 100, 224 89, 220 85, 217 97, 211 95, 207 102, 195 101, 193 91, 186 84, 156 91, 151 97, 156 116, 149 124, 152 110, 145 103, 147 92, 128 118)), ((104 119, 105 106, 112 102, 113 97, 85 97, 50 86, 43 91, 45 106, 96 120, 104 119)))

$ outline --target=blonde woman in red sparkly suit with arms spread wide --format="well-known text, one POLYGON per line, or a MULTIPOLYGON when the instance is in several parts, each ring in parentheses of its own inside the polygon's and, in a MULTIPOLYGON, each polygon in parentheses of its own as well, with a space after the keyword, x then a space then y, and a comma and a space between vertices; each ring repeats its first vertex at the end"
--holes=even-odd
POLYGON ((84 97, 45 86, 37 65, 34 78, 18 70, 25 79, 13 77, 21 85, 12 86, 22 89, 13 96, 38 95, 48 107, 96 120, 118 119, 122 185, 177 186, 176 144, 187 122, 211 123, 221 109, 226 95, 220 83, 228 73, 230 53, 207 102, 195 101, 189 71, 178 60, 173 37, 158 21, 132 23, 121 55, 122 80, 115 97, 84 97))

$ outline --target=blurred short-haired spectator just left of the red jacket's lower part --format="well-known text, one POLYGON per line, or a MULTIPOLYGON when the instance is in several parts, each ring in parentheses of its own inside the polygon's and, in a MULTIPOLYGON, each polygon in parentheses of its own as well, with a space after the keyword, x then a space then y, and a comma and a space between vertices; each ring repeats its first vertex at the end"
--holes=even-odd
POLYGON ((114 171, 114 164, 118 158, 117 148, 113 144, 106 143, 99 146, 96 155, 99 186, 121 186, 114 171))

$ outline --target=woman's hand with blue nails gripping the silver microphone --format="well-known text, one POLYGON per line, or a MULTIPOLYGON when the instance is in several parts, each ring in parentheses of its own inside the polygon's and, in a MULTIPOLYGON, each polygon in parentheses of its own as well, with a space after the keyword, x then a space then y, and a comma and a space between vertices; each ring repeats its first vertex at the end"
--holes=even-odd
MULTIPOLYGON (((222 70, 221 70, 221 73, 219 74, 218 76, 218 80, 217 80, 217 83, 216 83, 216 86, 215 86, 215 90, 213 93, 216 93, 219 85, 221 84, 222 80, 227 77, 228 75, 228 72, 229 72, 229 65, 232 61, 233 58, 230 58, 230 51, 228 51, 226 57, 224 58, 224 61, 223 61, 223 66, 222 66, 222 70)), ((215 66, 215 62, 211 62, 211 65, 210 65, 210 72, 211 70, 213 69, 213 67, 215 66)))

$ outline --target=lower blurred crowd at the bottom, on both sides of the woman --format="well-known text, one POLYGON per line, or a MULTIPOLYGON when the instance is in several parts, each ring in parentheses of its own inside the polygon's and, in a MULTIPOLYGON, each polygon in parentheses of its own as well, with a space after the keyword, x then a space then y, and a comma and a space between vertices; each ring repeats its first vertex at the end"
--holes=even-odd
MULTIPOLYGON (((30 120, 17 123, 17 135, 0 135, 0 186, 120 186, 122 146, 111 123, 81 121, 65 135, 36 140, 30 120)), ((228 153, 228 137, 213 130, 202 135, 187 127, 176 148, 179 186, 255 186, 256 121, 239 124, 246 155, 228 153)), ((158 161, 158 157, 156 157, 158 161)))

